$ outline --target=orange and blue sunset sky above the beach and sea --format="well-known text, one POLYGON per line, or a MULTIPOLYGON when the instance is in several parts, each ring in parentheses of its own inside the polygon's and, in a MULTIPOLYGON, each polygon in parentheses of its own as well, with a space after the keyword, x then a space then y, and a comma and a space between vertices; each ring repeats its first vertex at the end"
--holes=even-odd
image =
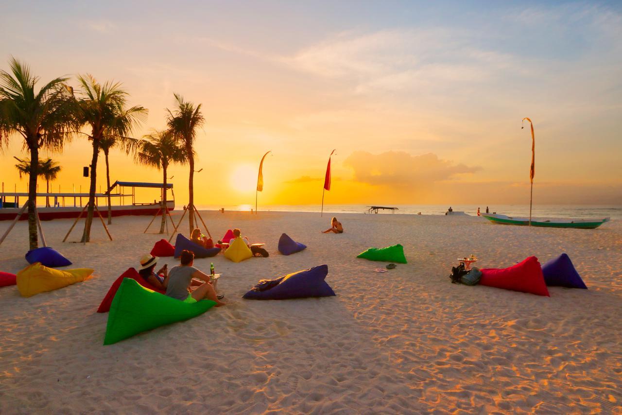
MULTIPOLYGON (((416 1, 8 1, 0 69, 41 85, 90 73, 165 128, 174 93, 201 103, 197 205, 622 204, 622 3, 416 1)), ((77 85, 76 85, 77 86, 77 85)), ((88 189, 90 142, 62 153, 52 189, 88 189)), ((0 153, 5 189, 26 191, 0 153)), ((98 185, 105 187, 104 164, 98 185)), ((157 182, 111 152, 111 180, 157 182)), ((187 166, 172 166, 178 204, 187 166)), ((41 189, 42 190, 42 189, 41 189)), ((151 197, 151 196, 150 196, 151 197)))

